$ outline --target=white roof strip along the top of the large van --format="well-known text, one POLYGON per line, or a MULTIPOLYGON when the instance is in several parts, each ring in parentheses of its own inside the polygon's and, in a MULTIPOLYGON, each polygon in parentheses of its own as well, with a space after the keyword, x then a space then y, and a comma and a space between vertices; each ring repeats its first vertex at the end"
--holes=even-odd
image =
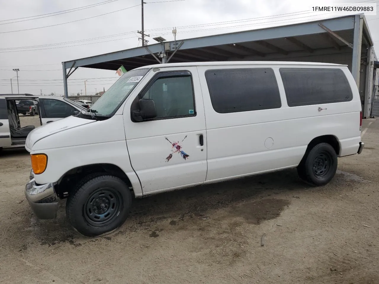
POLYGON ((214 65, 312 65, 312 66, 347 66, 346 64, 323 63, 323 62, 298 62, 298 61, 207 61, 207 62, 179 62, 153 64, 135 68, 163 68, 163 67, 180 67, 180 66, 214 66, 214 65))

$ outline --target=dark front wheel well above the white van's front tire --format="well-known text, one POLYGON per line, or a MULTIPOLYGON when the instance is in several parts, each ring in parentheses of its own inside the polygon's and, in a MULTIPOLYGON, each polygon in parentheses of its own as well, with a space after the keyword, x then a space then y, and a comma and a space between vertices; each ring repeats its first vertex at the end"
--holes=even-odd
POLYGON ((66 172, 54 186, 56 194, 60 198, 67 198, 81 179, 93 173, 107 173, 116 176, 117 178, 121 178, 122 181, 127 184, 129 189, 133 191, 132 183, 130 183, 129 178, 120 167, 113 164, 92 164, 76 167, 66 172))

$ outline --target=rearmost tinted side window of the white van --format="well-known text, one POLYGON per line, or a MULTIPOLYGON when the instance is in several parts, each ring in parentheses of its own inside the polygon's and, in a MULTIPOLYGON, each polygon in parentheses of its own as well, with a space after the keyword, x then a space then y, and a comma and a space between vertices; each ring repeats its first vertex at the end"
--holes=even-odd
POLYGON ((351 101, 352 92, 341 69, 280 68, 288 106, 351 101))

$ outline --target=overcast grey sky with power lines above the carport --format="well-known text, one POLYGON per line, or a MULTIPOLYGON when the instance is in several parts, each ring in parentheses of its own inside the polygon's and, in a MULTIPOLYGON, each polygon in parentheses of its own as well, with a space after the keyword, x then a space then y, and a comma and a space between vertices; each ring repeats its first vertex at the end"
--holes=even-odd
MULTIPOLYGON (((379 0, 144 0, 144 29, 177 40, 308 22, 330 16, 312 6, 379 0), (221 23, 222 22, 222 23, 221 23)), ((377 8, 379 10, 379 8, 377 8)), ((379 56, 379 16, 366 16, 379 56)), ((141 46, 141 0, 0 0, 0 94, 63 95, 63 61, 141 46), (50 26, 50 27, 48 27, 50 26), (19 91, 16 72, 20 69, 19 91)), ((68 92, 94 95, 119 78, 115 71, 78 68, 68 92), (85 80, 86 83, 85 83, 85 80)))

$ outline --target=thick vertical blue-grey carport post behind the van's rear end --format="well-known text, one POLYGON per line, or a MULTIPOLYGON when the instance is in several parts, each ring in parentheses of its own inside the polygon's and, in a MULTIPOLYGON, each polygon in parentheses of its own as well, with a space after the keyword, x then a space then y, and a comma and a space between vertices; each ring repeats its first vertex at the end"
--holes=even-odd
POLYGON ((353 56, 351 63, 351 73, 356 81, 359 89, 360 78, 360 53, 362 49, 362 30, 363 30, 363 18, 359 15, 355 16, 354 20, 354 42, 353 42, 353 56))

